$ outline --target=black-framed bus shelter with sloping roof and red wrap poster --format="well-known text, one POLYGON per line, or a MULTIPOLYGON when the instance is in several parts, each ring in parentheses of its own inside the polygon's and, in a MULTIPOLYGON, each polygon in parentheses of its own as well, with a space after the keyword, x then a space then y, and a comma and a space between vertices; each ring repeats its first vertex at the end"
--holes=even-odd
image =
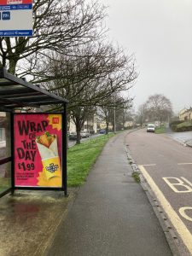
POLYGON ((67 195, 67 100, 0 68, 0 197, 15 189, 67 195), (61 105, 62 111, 23 113, 61 105), (17 111, 15 111, 17 109, 17 111))

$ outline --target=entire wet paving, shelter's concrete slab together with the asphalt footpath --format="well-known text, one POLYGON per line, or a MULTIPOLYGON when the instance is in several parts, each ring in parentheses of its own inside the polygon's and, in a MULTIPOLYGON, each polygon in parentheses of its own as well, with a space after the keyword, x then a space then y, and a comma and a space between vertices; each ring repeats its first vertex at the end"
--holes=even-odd
POLYGON ((88 182, 69 189, 69 197, 25 190, 1 198, 0 256, 171 255, 142 187, 131 177, 124 143, 123 134, 110 139, 88 182))

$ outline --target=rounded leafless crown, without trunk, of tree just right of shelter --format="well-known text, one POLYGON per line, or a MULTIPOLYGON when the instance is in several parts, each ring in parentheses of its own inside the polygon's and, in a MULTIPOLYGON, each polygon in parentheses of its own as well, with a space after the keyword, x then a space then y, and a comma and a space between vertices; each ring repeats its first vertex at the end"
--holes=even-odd
POLYGON ((92 42, 73 48, 73 55, 57 55, 44 63, 42 73, 46 73, 46 84, 50 90, 73 101, 82 90, 89 91, 89 97, 78 97, 78 105, 101 102, 117 90, 128 90, 137 78, 134 57, 125 56, 122 49, 112 44, 92 42), (127 86, 129 84, 129 86, 127 86), (95 90, 92 90, 94 85, 95 90), (129 88, 128 88, 129 87, 129 88), (97 92, 97 93, 95 93, 97 92), (94 96, 93 96, 94 94, 94 96), (90 97, 91 96, 91 97, 90 97))

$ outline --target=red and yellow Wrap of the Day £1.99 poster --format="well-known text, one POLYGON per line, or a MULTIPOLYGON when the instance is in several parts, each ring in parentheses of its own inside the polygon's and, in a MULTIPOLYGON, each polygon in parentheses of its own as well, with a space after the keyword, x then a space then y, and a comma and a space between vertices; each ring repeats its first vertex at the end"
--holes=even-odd
POLYGON ((62 187, 61 113, 15 114, 15 187, 62 187))

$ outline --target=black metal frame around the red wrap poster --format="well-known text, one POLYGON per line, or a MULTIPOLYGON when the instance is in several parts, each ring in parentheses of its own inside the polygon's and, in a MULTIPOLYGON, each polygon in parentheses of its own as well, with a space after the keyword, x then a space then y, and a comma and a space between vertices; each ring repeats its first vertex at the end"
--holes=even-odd
POLYGON ((63 104, 64 111, 63 112, 35 112, 35 113, 12 113, 11 115, 11 127, 12 127, 12 172, 11 172, 11 180, 12 180, 12 194, 15 189, 25 189, 25 190, 59 190, 64 191, 65 195, 67 195, 67 116, 66 116, 66 104, 63 104), (62 180, 61 187, 28 187, 28 186, 16 186, 15 185, 15 115, 30 115, 30 114, 61 114, 61 172, 62 172, 62 180))

